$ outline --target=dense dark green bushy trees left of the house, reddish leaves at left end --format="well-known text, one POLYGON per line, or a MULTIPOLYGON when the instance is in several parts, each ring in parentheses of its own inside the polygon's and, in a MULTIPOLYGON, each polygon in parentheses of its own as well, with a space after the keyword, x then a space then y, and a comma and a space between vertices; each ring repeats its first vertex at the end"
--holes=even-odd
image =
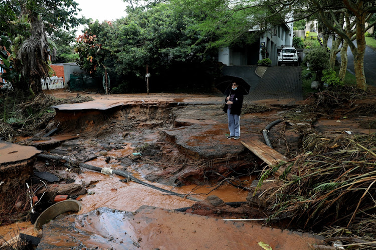
POLYGON ((117 79, 111 92, 144 89, 146 65, 151 74, 150 90, 172 90, 177 84, 192 87, 198 78, 201 84, 210 85, 208 75, 218 70, 212 63, 218 49, 208 45, 213 37, 200 35, 196 28, 204 20, 202 14, 179 4, 162 3, 134 8, 113 23, 96 21, 78 39, 78 63, 96 76, 103 76, 105 65, 117 79))

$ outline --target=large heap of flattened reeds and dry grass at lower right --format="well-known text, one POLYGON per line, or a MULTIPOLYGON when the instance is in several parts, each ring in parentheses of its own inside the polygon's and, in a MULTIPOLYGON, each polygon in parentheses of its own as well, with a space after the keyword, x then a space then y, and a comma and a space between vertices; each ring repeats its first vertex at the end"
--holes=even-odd
POLYGON ((357 235, 376 238, 375 145, 374 134, 308 135, 304 153, 282 165, 289 167, 285 182, 272 190, 276 202, 268 207, 273 211, 269 220, 289 218, 305 229, 356 228, 357 235))

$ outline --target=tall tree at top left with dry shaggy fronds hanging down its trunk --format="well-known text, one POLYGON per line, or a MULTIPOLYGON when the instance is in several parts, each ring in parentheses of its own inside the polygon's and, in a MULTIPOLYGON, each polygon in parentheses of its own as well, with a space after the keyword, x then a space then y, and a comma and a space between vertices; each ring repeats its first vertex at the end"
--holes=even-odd
MULTIPOLYGON (((3 0, 0 2, 0 30, 13 42, 10 48, 12 70, 21 73, 15 88, 42 91, 41 78, 48 76, 48 37, 58 37, 85 22, 77 18, 78 3, 73 0, 3 0)), ((51 50, 51 49, 50 49, 51 50)))

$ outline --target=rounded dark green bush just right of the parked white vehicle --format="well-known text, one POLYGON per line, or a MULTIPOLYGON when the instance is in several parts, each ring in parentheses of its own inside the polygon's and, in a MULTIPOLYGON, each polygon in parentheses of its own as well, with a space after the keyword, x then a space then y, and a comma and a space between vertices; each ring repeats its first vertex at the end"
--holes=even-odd
POLYGON ((312 47, 304 50, 303 63, 309 62, 313 71, 329 68, 329 53, 321 47, 312 47))

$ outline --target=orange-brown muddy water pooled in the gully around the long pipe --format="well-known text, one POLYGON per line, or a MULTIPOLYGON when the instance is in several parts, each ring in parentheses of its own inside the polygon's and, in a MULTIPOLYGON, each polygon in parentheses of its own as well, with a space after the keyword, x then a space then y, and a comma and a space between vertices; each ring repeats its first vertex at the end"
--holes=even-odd
MULTIPOLYGON (((114 156, 118 153, 121 153, 121 155, 126 155, 127 153, 130 154, 131 148, 111 151, 108 152, 108 155, 114 156)), ((102 158, 97 158, 86 163, 99 167, 109 167, 109 164, 106 163, 102 158)), ((113 169, 120 169, 119 165, 110 165, 113 169)), ((143 178, 145 172, 138 172, 135 170, 138 168, 138 166, 140 165, 134 164, 127 170, 132 172, 134 177, 139 178, 142 181, 148 182, 163 189, 172 190, 177 193, 194 194, 193 197, 197 199, 205 199, 209 195, 217 195, 225 202, 245 201, 248 194, 247 191, 235 188, 230 184, 225 184, 215 189, 215 186, 210 187, 209 185, 185 185, 182 187, 172 188, 171 186, 166 186, 155 182, 151 183, 143 178)), ((76 183, 85 185, 89 182, 97 182, 94 182, 92 186, 88 186, 89 193, 93 194, 85 195, 82 197, 82 210, 79 213, 87 213, 88 211, 94 210, 98 207, 109 207, 118 210, 135 211, 141 205, 175 209, 191 206, 195 203, 195 201, 190 199, 181 198, 176 195, 170 195, 168 193, 161 192, 159 190, 141 185, 133 181, 122 182, 120 181, 120 179, 124 179, 124 177, 116 174, 105 175, 96 171, 84 169, 83 173, 78 175, 76 183)))

